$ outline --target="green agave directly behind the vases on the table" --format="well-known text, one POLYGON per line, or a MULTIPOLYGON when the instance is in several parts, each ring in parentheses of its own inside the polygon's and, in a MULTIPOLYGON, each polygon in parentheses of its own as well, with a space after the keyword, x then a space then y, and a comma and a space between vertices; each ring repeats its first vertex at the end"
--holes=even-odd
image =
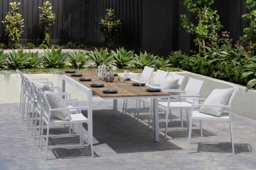
POLYGON ((105 65, 115 63, 115 60, 113 59, 113 53, 108 53, 108 49, 103 50, 101 48, 100 51, 98 51, 95 48, 95 51, 92 51, 92 54, 90 54, 90 56, 92 60, 95 60, 95 63, 97 65, 100 65, 100 63, 104 63, 105 65))

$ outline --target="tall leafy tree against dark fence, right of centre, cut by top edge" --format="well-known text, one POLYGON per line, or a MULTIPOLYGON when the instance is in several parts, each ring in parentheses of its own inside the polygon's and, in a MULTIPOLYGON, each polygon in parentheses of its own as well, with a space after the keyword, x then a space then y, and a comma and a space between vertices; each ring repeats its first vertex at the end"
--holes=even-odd
POLYGON ((182 26, 186 32, 196 34, 197 39, 194 40, 196 45, 199 45, 199 51, 205 51, 205 40, 209 38, 210 34, 214 31, 220 31, 223 28, 217 15, 217 11, 213 11, 210 5, 213 0, 185 0, 184 5, 189 9, 198 20, 197 25, 188 22, 186 15, 181 15, 183 21, 182 26))

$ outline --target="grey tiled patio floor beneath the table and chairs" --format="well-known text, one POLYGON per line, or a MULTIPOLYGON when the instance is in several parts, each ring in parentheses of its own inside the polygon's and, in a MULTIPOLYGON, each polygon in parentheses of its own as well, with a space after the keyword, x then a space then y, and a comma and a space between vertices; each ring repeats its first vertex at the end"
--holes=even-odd
MULTIPOLYGON (((164 114, 160 114, 160 142, 147 130, 149 109, 141 109, 134 122, 134 109, 128 115, 113 116, 112 101, 93 101, 94 155, 90 147, 82 148, 79 137, 69 135, 68 128, 50 128, 47 161, 39 151, 36 139, 30 136, 20 119, 19 104, 0 105, 0 170, 5 169, 86 169, 86 170, 252 170, 256 169, 256 121, 233 114, 235 152, 232 154, 228 122, 203 121, 204 137, 200 137, 199 121, 194 121, 190 154, 186 153, 188 131, 181 126, 179 111, 172 111, 169 139, 164 140, 164 114)), ((85 103, 84 103, 85 104, 85 103)), ((123 101, 118 102, 122 108, 123 101)), ((128 108, 135 101, 128 101, 128 108)), ((119 109, 121 111, 121 109, 119 109)), ((86 112, 83 112, 86 115, 86 112)), ((183 120, 186 120, 185 110, 183 120)), ((184 121, 186 127, 186 121, 184 121)), ((87 143, 87 125, 84 125, 87 143)), ((75 125, 77 135, 78 128, 75 125)), ((45 137, 46 131, 44 131, 45 137)))

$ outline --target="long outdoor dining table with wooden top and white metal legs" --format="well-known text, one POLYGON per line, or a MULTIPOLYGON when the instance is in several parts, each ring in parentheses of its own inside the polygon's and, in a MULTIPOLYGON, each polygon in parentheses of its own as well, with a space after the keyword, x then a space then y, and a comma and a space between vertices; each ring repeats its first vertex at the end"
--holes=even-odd
POLYGON ((93 93, 101 97, 103 100, 113 100, 113 114, 117 113, 117 100, 153 98, 153 114, 154 114, 154 129, 155 129, 154 138, 155 138, 155 142, 159 142, 158 98, 168 98, 170 97, 170 94, 162 91, 147 92, 146 89, 152 88, 147 85, 141 86, 141 92, 139 92, 140 87, 132 85, 132 83, 135 83, 137 81, 132 79, 130 81, 127 81, 128 86, 125 86, 126 82, 124 83, 123 91, 125 93, 120 93, 122 90, 122 85, 121 85, 121 82, 118 80, 118 76, 115 77, 115 80, 113 82, 105 82, 102 80, 95 81, 97 79, 97 76, 95 72, 92 72, 92 71, 79 72, 79 74, 82 74, 81 77, 72 77, 70 73, 65 73, 65 72, 60 72, 60 74, 62 74, 62 92, 65 92, 65 83, 67 82, 88 95, 88 101, 87 101, 88 106, 91 106, 88 109, 88 119, 89 119, 89 124, 91 124, 91 129, 88 130, 88 135, 93 135, 92 133, 93 131, 92 130, 92 95, 93 93), (91 78, 92 81, 79 81, 79 78, 91 78), (90 86, 90 84, 104 84, 104 87, 93 88, 90 86), (106 87, 107 85, 110 85, 111 87, 106 87), (118 92, 115 94, 106 94, 106 93, 103 93, 102 90, 118 90, 118 92))

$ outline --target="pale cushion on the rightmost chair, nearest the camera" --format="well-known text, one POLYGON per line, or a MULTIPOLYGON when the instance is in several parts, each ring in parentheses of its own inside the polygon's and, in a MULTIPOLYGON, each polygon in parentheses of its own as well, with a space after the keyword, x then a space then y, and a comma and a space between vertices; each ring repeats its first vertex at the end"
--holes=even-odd
MULTIPOLYGON (((207 97, 203 105, 228 105, 229 99, 234 92, 234 88, 214 89, 207 97)), ((211 114, 213 116, 221 116, 225 108, 201 106, 199 112, 211 114)))

